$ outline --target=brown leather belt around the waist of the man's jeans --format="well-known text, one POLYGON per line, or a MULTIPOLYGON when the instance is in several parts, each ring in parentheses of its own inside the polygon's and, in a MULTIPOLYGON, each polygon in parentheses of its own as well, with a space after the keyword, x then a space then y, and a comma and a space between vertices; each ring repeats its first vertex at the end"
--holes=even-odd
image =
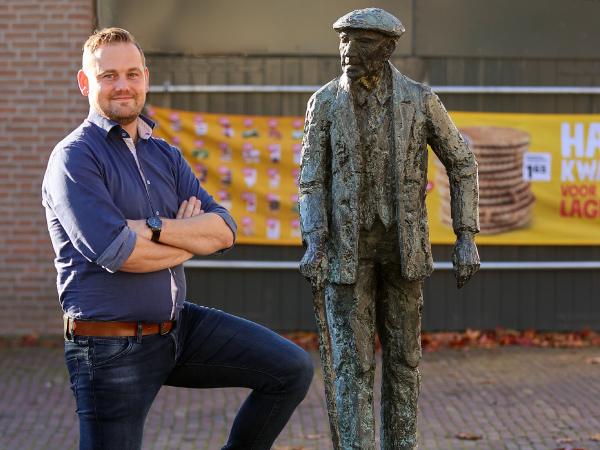
MULTIPOLYGON (((76 336, 127 337, 138 335, 137 322, 88 322, 66 319, 65 331, 76 336)), ((167 334, 173 328, 173 321, 163 323, 142 323, 142 336, 167 334)))

